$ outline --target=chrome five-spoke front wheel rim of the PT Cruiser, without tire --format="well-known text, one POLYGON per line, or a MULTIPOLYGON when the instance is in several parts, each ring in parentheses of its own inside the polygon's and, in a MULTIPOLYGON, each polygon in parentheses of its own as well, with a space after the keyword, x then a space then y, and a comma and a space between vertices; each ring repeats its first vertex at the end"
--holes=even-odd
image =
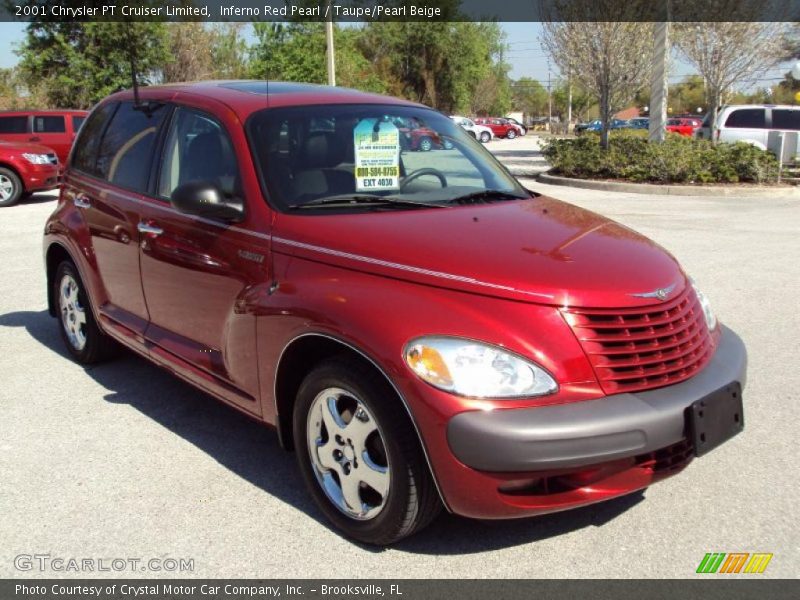
POLYGON ((314 474, 334 506, 359 521, 375 518, 391 475, 380 428, 364 403, 341 388, 322 390, 308 412, 306 438, 314 474))

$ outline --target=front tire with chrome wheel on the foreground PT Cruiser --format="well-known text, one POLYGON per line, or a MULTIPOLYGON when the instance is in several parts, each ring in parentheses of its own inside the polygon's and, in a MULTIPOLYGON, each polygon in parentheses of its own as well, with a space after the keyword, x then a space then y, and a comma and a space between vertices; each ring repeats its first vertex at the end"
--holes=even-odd
POLYGON ((439 514, 439 496, 413 426, 374 370, 345 357, 321 363, 300 386, 293 426, 311 496, 348 537, 391 544, 439 514))

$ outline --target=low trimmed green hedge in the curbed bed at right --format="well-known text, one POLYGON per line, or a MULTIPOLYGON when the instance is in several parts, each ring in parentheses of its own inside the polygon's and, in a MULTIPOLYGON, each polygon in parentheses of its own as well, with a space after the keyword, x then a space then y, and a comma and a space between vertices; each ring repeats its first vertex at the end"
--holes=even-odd
POLYGON ((596 134, 552 139, 543 154, 554 172, 581 179, 623 179, 639 183, 772 183, 778 175, 773 154, 745 143, 712 144, 668 134, 661 144, 647 132, 615 131, 604 151, 596 134))

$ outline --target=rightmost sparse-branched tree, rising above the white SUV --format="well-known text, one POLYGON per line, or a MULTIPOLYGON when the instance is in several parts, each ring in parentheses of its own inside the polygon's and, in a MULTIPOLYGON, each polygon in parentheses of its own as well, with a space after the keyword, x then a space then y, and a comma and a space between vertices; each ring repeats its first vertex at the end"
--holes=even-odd
POLYGON ((785 52, 784 28, 782 23, 756 22, 675 24, 677 47, 705 80, 712 128, 735 85, 754 81, 779 62, 785 52))

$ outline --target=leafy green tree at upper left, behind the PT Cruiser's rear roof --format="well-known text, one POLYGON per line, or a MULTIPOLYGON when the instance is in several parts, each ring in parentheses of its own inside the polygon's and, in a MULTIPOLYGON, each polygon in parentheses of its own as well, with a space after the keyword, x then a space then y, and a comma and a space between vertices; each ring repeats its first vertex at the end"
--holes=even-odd
POLYGON ((22 83, 58 108, 89 108, 131 87, 131 52, 139 83, 156 80, 169 58, 164 24, 34 21, 17 51, 22 83))

